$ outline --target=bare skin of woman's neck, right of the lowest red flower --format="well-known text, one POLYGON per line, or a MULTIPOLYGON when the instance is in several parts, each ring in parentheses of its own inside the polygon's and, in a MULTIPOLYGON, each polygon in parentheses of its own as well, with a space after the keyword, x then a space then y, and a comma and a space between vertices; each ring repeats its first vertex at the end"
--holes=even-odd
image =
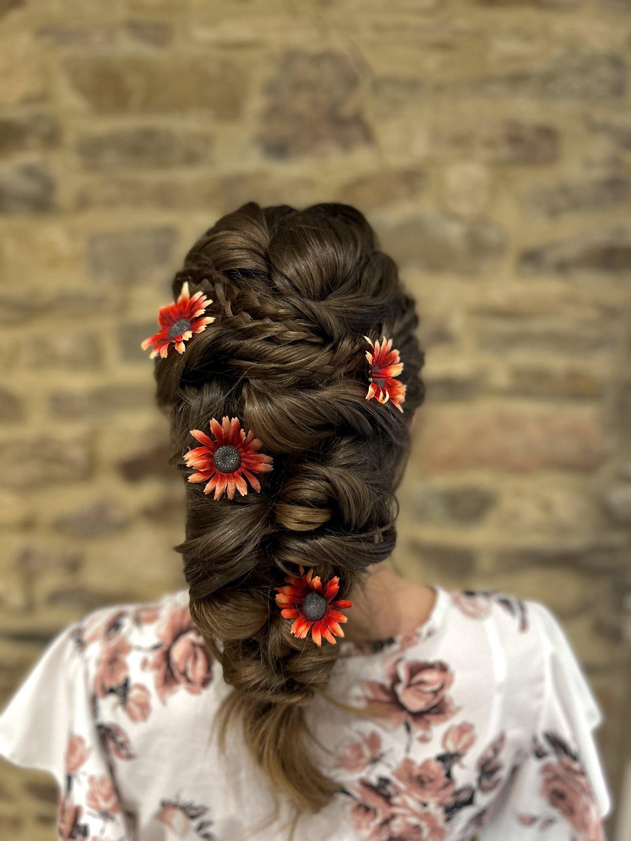
POLYGON ((353 643, 365 643, 422 625, 432 612, 436 591, 402 578, 385 562, 369 567, 351 599, 344 635, 353 643))

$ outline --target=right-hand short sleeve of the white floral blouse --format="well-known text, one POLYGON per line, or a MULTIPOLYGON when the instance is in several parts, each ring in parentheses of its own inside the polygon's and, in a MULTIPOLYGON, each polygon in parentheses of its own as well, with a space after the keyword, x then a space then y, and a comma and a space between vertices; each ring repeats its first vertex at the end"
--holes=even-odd
POLYGON ((544 701, 480 841, 604 841, 611 801, 594 739, 601 711, 558 621, 537 603, 529 611, 543 651, 544 701))

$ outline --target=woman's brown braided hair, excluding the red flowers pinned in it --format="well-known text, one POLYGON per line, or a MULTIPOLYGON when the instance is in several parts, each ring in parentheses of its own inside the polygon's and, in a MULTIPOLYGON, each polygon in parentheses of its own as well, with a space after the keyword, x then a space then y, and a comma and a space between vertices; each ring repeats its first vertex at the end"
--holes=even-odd
MULTIPOLYGON (((172 288, 212 299, 215 322, 183 355, 156 362, 172 460, 197 446, 190 430, 240 419, 273 456, 261 493, 214 500, 187 484, 182 553, 190 609, 233 690, 220 710, 242 727, 253 759, 300 809, 317 811, 335 784, 310 759, 305 708, 326 688, 337 646, 291 632, 274 588, 300 566, 358 576, 395 546, 395 488, 422 403, 414 301, 358 210, 245 204, 188 252, 172 288), (364 336, 400 351, 406 402, 366 399, 364 336)), ((186 473, 185 473, 186 475, 186 473)), ((351 613, 350 621, 353 621, 351 613)))

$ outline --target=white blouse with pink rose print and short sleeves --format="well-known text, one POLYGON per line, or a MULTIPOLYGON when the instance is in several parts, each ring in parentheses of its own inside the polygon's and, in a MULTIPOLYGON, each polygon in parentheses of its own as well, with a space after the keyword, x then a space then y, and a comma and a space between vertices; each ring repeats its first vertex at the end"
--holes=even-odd
MULTIPOLYGON (((435 588, 415 632, 342 640, 307 710, 339 791, 300 841, 601 841, 600 714, 559 624, 535 602, 435 588)), ((50 770, 63 841, 290 838, 293 812, 212 723, 229 692, 185 592, 62 632, 0 718, 0 753, 50 770), (255 830, 259 829, 256 833, 255 830)))

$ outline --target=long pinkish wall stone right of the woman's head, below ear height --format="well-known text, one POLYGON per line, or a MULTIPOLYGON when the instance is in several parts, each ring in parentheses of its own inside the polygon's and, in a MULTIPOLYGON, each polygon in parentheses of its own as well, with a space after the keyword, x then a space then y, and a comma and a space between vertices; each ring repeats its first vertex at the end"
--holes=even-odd
POLYGON ((450 407, 427 412, 419 426, 419 462, 434 471, 591 470, 608 450, 597 412, 586 407, 450 407))

